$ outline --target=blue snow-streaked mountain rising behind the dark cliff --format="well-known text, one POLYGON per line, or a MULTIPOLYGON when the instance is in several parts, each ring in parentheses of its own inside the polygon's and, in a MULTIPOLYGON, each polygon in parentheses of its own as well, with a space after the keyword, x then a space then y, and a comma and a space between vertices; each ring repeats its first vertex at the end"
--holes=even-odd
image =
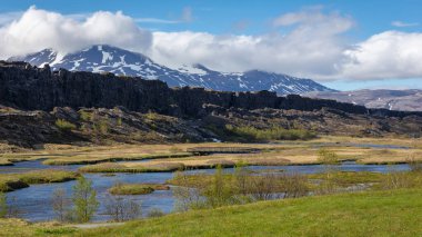
POLYGON ((9 60, 27 61, 38 67, 49 63, 56 70, 64 68, 72 71, 108 71, 115 75, 139 76, 144 79, 165 81, 171 87, 193 86, 224 91, 270 90, 279 95, 333 91, 310 79, 260 70, 219 72, 202 65, 171 69, 155 63, 141 53, 104 45, 92 46, 66 56, 59 56, 54 50, 44 49, 23 57, 12 57, 9 60))

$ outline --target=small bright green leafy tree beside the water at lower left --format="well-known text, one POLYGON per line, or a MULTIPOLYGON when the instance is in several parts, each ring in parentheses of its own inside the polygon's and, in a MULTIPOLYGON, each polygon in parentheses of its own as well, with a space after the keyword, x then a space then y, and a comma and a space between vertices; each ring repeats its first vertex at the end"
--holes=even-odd
POLYGON ((92 181, 80 177, 73 186, 73 211, 77 221, 88 223, 99 207, 97 191, 92 188, 92 181))

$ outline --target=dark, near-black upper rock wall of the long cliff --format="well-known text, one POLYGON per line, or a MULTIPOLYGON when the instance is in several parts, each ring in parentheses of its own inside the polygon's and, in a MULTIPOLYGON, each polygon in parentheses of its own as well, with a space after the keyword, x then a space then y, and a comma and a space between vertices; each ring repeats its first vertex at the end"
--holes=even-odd
POLYGON ((113 108, 132 111, 155 111, 177 117, 202 117, 207 105, 224 109, 295 109, 303 111, 330 108, 349 113, 405 117, 422 112, 366 109, 363 106, 326 99, 310 99, 275 92, 221 92, 203 88, 169 88, 159 80, 117 77, 112 73, 51 71, 48 66, 32 67, 26 62, 0 62, 0 105, 24 110, 51 111, 54 107, 113 108))

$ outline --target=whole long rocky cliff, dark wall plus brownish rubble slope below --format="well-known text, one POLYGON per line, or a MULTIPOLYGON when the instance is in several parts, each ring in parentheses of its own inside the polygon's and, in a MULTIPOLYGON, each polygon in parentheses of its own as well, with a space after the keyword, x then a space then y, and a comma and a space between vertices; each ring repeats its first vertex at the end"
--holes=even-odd
POLYGON ((420 137, 422 112, 0 62, 0 144, 228 140, 228 126, 420 137))

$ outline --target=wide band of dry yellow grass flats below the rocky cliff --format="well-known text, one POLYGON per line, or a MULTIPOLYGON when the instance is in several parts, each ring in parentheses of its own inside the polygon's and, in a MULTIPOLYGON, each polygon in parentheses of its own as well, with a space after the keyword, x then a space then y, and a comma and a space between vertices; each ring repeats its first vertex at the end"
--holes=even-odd
MULTIPOLYGON (((112 146, 71 146, 71 145, 43 145, 37 150, 19 150, 18 152, 0 154, 0 165, 19 160, 33 160, 46 158, 48 165, 67 164, 97 164, 115 160, 138 160, 148 156, 154 157, 165 154, 180 154, 194 147, 250 147, 262 149, 261 154, 250 155, 220 155, 204 158, 194 157, 185 159, 183 164, 204 165, 213 164, 214 159, 237 162, 239 160, 249 161, 251 165, 260 164, 314 164, 318 160, 320 146, 339 155, 340 159, 359 160, 360 162, 403 162, 410 154, 419 159, 422 154, 422 139, 399 139, 399 138, 351 138, 323 136, 310 141, 283 141, 280 144, 164 144, 164 145, 122 145, 112 146), (352 147, 350 144, 375 144, 408 146, 412 149, 394 149, 395 154, 382 154, 376 148, 352 147), (190 161, 189 161, 190 160, 190 161), (199 161, 198 161, 199 160, 199 161)), ((390 149, 389 149, 390 150, 390 149)), ((162 162, 163 160, 155 160, 162 162)), ((165 159, 169 162, 181 162, 181 158, 165 159)), ((192 165, 192 166, 193 166, 192 165)))

